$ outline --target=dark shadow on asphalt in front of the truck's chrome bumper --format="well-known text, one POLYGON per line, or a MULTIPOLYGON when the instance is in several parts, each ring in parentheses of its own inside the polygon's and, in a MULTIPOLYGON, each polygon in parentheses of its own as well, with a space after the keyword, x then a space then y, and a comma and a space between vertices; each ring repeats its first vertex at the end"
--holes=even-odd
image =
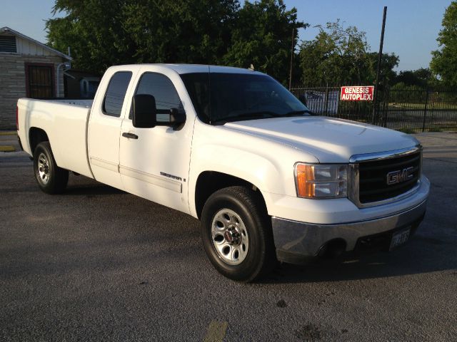
POLYGON ((449 270, 457 281, 455 242, 416 234, 411 242, 393 252, 375 252, 341 259, 316 260, 306 265, 280 264, 263 283, 350 281, 423 274, 449 270))

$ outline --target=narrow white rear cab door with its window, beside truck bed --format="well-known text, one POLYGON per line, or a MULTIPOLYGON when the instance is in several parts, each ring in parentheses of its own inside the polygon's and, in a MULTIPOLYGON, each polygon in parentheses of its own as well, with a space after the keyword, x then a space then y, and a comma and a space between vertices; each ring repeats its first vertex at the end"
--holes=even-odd
POLYGON ((106 71, 97 93, 89 120, 89 159, 94 177, 119 189, 124 189, 119 174, 119 137, 126 111, 126 94, 134 87, 134 72, 110 68, 106 71), (106 84, 108 83, 108 84, 106 84))

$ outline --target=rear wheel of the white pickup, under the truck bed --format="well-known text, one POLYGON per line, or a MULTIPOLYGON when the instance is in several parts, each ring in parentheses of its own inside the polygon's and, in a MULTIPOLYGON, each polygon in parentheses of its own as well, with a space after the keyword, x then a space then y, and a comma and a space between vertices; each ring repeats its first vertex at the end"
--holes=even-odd
POLYGON ((40 142, 34 152, 34 175, 38 186, 46 194, 64 192, 69 172, 57 166, 49 141, 40 142))

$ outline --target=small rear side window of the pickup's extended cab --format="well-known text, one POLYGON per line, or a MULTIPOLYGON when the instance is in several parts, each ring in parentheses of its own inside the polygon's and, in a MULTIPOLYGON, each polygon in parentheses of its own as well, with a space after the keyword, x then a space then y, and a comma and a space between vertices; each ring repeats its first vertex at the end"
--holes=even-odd
POLYGON ((103 112, 106 115, 121 116, 122 105, 131 79, 130 71, 119 71, 111 76, 103 101, 103 112))

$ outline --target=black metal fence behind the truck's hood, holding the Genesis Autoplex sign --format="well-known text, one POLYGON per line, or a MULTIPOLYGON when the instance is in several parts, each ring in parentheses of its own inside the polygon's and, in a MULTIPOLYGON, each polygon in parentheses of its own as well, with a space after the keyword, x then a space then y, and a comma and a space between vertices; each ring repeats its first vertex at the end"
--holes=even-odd
POLYGON ((406 133, 457 131, 457 89, 378 90, 378 100, 342 101, 341 87, 296 87, 318 115, 374 123, 406 133), (376 110, 375 110, 376 105, 376 110))

